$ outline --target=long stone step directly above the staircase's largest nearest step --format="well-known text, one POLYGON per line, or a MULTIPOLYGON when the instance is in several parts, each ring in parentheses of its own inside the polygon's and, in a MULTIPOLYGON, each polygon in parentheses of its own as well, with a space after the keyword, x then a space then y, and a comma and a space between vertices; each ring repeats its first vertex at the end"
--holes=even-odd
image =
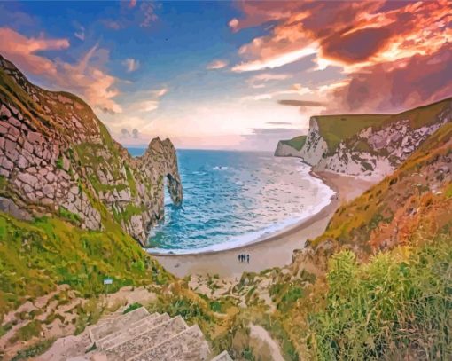
POLYGON ((160 343, 168 341, 187 328, 185 321, 180 316, 171 318, 167 322, 153 327, 152 330, 145 331, 129 341, 116 344, 112 348, 107 349, 108 360, 128 360, 145 349, 152 349, 160 345, 160 343))

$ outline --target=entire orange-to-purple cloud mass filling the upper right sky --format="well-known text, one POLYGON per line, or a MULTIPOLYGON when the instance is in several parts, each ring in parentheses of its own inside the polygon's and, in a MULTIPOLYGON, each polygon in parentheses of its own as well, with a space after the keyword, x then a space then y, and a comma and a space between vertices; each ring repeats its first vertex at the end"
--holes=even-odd
POLYGON ((347 111, 391 110, 450 95, 448 0, 242 2, 240 8, 244 16, 231 20, 233 31, 264 24, 270 30, 240 48, 244 61, 233 70, 282 67, 316 54, 316 70, 342 67, 347 76, 329 91, 331 107, 347 111))

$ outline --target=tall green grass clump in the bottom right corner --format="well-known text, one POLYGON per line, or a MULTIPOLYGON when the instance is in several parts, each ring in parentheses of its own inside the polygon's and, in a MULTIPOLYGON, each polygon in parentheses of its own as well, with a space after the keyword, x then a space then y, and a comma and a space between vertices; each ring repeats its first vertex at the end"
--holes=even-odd
POLYGON ((315 358, 450 359, 450 240, 397 248, 367 264, 350 251, 334 255, 326 307, 310 318, 315 358))

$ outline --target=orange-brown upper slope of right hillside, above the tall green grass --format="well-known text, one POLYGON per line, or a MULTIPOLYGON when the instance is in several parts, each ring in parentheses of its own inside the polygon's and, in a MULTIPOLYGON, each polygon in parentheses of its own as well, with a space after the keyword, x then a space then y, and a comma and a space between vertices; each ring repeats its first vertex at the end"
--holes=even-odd
MULTIPOLYGON (((330 240, 340 245, 379 247, 376 239, 383 232, 382 224, 395 226, 394 223, 401 223, 402 212, 409 215, 410 209, 422 203, 422 195, 438 190, 442 179, 448 176, 452 167, 451 139, 452 124, 448 123, 428 138, 392 176, 339 208, 326 232, 313 244, 330 240)), ((401 237, 399 232, 397 238, 401 237)))

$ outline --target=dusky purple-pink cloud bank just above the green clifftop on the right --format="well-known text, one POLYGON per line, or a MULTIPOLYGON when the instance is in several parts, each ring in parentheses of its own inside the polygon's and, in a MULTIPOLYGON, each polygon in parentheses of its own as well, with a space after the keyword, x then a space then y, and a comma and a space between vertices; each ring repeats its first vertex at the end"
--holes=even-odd
POLYGON ((330 112, 387 112, 432 103, 452 95, 452 46, 364 67, 330 92, 330 112))

